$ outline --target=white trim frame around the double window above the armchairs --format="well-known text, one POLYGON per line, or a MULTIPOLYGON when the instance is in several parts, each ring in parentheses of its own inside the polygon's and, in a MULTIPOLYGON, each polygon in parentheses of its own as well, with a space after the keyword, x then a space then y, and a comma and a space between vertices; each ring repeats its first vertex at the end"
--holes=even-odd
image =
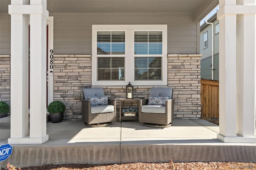
MULTIPOLYGON (((123 55, 120 55, 120 57, 123 55)), ((153 55, 147 55, 153 56, 153 55)), ((111 55, 108 55, 111 57, 111 55)), ((92 25, 92 85, 167 85, 167 25, 92 25), (97 81, 97 32, 98 31, 125 31, 125 77, 124 81, 97 81), (134 80, 134 32, 135 31, 162 31, 162 80, 134 80), (130 57, 132 57, 132 59, 130 57), (132 65, 132 69, 129 67, 132 65), (132 70, 132 71, 131 71, 132 70)))

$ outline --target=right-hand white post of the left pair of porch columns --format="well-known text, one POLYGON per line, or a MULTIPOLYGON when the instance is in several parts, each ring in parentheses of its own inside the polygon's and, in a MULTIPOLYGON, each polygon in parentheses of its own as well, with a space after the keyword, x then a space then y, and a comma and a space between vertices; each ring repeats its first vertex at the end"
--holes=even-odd
MULTIPOLYGON (((30 0, 46 9, 46 0, 30 0)), ((30 138, 44 143, 46 134, 46 19, 48 14, 30 14, 30 138)))

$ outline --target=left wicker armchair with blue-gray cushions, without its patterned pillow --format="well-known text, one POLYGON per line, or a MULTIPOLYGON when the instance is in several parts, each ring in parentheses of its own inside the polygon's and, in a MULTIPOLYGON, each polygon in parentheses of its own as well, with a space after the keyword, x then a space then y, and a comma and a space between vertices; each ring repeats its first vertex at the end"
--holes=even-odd
POLYGON ((84 99, 82 101, 82 121, 89 127, 103 127, 111 125, 116 121, 116 99, 108 98, 108 105, 91 106, 90 97, 103 97, 102 88, 92 88, 83 90, 84 99))

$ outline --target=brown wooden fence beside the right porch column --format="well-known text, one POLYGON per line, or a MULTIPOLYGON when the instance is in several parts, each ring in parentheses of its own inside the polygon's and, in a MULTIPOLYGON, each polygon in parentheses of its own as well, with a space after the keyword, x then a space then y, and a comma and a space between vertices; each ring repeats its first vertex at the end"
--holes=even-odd
POLYGON ((201 79, 202 118, 219 119, 219 81, 201 79))

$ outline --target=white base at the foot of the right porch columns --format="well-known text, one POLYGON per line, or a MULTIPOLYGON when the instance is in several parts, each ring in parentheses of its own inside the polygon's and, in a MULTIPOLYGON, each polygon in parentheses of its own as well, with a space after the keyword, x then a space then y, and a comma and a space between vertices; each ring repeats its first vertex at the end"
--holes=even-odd
POLYGON ((242 137, 237 135, 236 137, 225 137, 217 134, 217 139, 225 143, 256 143, 256 136, 242 137))

